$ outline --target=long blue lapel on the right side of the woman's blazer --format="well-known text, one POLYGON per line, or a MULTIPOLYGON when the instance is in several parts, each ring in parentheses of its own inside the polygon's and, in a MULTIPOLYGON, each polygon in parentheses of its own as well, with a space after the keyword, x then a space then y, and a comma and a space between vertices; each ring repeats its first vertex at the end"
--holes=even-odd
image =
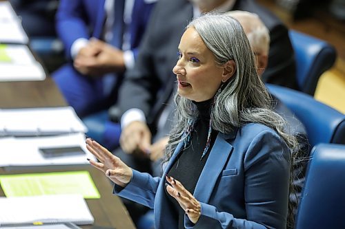
MULTIPOLYGON (((234 132, 236 133, 236 131, 234 132)), ((198 201, 208 203, 219 174, 223 171, 232 152, 233 146, 226 141, 226 135, 218 133, 215 144, 210 151, 210 155, 195 187, 194 197, 198 201)))

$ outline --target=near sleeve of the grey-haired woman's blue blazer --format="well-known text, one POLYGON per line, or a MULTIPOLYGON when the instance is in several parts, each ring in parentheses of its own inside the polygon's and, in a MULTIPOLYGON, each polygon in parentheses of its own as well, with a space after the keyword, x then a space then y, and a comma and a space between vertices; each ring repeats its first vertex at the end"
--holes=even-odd
POLYGON ((210 221, 218 221, 221 228, 286 228, 290 150, 277 134, 262 131, 253 139, 244 157, 244 173, 246 219, 201 203, 201 217, 195 225, 185 215, 186 228, 212 225, 210 221))

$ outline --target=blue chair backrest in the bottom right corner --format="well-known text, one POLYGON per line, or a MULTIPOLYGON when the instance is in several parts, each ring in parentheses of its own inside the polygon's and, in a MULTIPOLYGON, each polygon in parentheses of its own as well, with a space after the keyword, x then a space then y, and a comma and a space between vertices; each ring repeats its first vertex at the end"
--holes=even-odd
POLYGON ((318 144, 311 155, 295 229, 345 228, 345 145, 318 144))

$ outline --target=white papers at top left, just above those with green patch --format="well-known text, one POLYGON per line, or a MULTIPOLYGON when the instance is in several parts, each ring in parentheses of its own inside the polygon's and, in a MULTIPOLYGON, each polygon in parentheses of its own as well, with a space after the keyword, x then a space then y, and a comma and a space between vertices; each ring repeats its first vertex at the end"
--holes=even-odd
POLYGON ((28 44, 28 35, 19 19, 0 21, 0 43, 28 44))

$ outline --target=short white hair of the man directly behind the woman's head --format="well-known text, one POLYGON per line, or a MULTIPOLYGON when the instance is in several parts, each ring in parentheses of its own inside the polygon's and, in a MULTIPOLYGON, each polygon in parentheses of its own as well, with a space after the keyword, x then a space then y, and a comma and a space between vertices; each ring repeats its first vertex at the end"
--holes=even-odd
POLYGON ((270 32, 257 14, 233 10, 226 12, 226 15, 235 18, 241 23, 254 53, 268 56, 270 50, 270 32))

